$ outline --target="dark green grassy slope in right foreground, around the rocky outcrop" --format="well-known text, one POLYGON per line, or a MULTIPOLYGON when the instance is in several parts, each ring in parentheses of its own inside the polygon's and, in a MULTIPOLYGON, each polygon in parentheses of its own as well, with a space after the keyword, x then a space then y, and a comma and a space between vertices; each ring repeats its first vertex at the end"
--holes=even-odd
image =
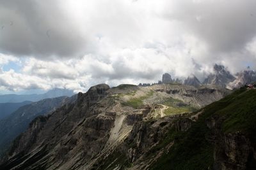
POLYGON ((252 141, 256 141, 256 90, 240 89, 209 104, 203 109, 197 122, 187 132, 173 132, 163 139, 157 147, 174 145, 164 153, 151 169, 211 169, 213 146, 205 137, 210 136, 205 120, 216 114, 225 118, 221 130, 224 133, 241 131, 252 141))

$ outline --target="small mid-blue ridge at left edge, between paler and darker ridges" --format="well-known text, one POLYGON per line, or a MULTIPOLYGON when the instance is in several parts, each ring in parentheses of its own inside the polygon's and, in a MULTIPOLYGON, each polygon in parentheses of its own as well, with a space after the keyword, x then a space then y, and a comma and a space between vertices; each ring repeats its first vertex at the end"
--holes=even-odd
POLYGON ((24 101, 22 103, 0 103, 0 119, 7 117, 21 106, 31 103, 31 101, 24 101))

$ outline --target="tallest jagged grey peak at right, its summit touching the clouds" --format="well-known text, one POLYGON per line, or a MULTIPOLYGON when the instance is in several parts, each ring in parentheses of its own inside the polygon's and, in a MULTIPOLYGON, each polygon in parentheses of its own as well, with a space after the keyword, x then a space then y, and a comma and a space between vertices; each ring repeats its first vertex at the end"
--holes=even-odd
POLYGON ((209 76, 205 78, 204 84, 213 84, 226 87, 228 83, 236 79, 223 65, 215 64, 213 68, 214 73, 209 74, 209 76))

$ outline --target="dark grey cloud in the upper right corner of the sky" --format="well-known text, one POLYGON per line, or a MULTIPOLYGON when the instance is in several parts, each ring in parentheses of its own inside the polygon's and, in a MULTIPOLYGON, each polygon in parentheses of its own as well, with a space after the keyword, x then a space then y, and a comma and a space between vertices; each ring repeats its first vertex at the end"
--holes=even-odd
POLYGON ((207 43, 211 52, 243 50, 256 34, 256 1, 172 1, 170 19, 207 43))

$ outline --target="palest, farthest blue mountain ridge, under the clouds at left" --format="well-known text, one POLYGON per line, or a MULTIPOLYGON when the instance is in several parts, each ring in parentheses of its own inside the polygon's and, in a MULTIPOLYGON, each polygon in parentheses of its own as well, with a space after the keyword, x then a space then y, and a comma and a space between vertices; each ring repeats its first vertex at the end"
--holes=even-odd
POLYGON ((42 99, 60 97, 60 96, 73 96, 74 92, 67 89, 52 89, 45 94, 4 94, 0 96, 0 103, 20 103, 23 101, 40 101, 42 99))

